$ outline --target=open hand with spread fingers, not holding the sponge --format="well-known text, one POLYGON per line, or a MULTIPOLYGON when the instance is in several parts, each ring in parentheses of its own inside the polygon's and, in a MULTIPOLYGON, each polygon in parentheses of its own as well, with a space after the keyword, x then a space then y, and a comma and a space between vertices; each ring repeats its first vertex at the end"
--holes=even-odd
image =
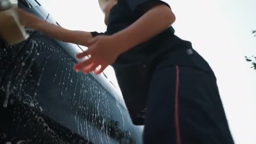
POLYGON ((76 58, 82 59, 89 55, 89 59, 75 64, 76 72, 80 70, 84 73, 94 71, 95 74, 100 74, 107 66, 115 62, 120 51, 114 37, 97 36, 88 41, 88 50, 77 54, 76 58))

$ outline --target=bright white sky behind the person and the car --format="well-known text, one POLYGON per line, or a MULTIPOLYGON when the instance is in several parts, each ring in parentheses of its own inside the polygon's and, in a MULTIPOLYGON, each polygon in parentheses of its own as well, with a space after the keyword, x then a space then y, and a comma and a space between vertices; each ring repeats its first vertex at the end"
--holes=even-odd
MULTIPOLYGON (((62 27, 106 30, 98 0, 38 1, 62 27)), ((176 35, 191 41, 216 74, 236 144, 256 144, 256 71, 244 59, 256 55, 256 0, 165 1, 176 14, 176 35)), ((105 72, 117 85, 112 69, 105 72)))

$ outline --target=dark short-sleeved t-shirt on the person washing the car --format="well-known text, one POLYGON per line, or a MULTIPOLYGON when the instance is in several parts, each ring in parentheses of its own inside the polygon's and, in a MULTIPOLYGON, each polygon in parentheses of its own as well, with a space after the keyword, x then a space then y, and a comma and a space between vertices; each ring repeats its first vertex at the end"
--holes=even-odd
MULTIPOLYGON (((129 27, 142 16, 141 7, 150 5, 150 3, 168 5, 161 0, 118 0, 110 10, 107 31, 104 33, 91 32, 91 34, 93 37, 113 35, 129 27)), ((167 65, 192 66, 211 72, 208 64, 198 53, 194 50, 189 51, 192 50, 192 44, 189 41, 181 40, 174 35, 174 32, 173 27, 168 27, 147 42, 120 54, 112 64, 125 104, 136 125, 144 123, 141 111, 147 105, 148 87, 152 73, 162 59, 170 59, 167 65)), ((136 36, 134 35, 134 37, 136 36)))

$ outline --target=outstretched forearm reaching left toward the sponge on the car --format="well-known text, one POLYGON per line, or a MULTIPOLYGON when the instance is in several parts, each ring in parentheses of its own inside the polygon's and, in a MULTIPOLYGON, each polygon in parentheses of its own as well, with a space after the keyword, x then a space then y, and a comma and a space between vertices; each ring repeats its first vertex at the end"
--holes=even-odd
POLYGON ((50 24, 47 21, 42 21, 36 16, 27 13, 20 8, 16 8, 16 10, 19 13, 21 23, 25 27, 31 27, 32 29, 38 30, 49 37, 66 43, 75 43, 84 46, 87 46, 88 40, 92 38, 91 32, 64 29, 55 24, 50 24))

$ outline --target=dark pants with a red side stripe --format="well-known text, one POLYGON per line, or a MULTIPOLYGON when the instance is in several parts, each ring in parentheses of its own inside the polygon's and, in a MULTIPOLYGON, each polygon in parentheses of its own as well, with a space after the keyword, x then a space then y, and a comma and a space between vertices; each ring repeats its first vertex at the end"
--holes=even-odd
POLYGON ((157 67, 149 87, 144 144, 234 144, 213 73, 157 67))

